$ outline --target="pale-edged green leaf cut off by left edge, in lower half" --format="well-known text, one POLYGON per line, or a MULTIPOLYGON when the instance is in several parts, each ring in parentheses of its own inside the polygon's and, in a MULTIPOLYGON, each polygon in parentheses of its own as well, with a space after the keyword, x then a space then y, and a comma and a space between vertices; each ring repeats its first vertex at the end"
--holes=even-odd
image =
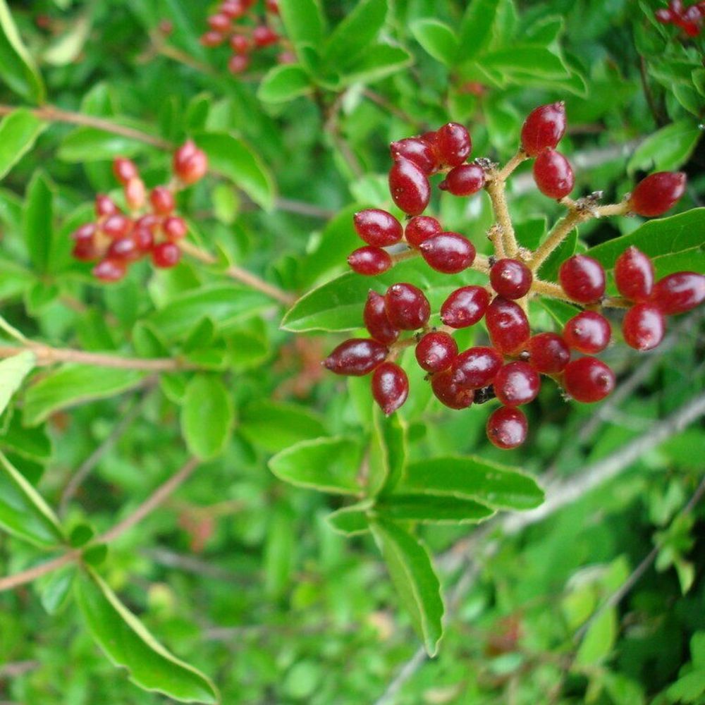
POLYGON ((64 541, 54 512, 4 453, 0 453, 0 526, 42 548, 64 541))

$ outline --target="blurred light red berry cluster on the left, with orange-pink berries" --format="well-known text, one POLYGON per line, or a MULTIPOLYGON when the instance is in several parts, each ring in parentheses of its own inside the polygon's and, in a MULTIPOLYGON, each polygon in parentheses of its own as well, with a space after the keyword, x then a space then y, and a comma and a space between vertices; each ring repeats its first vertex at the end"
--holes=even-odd
POLYGON ((97 261, 93 274, 105 282, 119 281, 130 264, 147 255, 154 266, 175 266, 181 259, 180 240, 188 232, 185 221, 175 214, 175 194, 200 180, 207 168, 206 155, 189 140, 174 154, 171 183, 155 186, 148 197, 137 166, 118 157, 113 172, 123 185, 129 214, 109 196, 98 194, 96 220, 71 235, 73 257, 82 262, 97 261))

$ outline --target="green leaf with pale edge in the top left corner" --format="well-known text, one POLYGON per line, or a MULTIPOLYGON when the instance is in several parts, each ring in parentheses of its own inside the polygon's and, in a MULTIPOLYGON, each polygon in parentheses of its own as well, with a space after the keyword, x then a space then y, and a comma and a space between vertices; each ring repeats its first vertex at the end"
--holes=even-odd
POLYGON ((44 82, 20 38, 6 0, 0 0, 0 76, 30 103, 44 102, 44 82))

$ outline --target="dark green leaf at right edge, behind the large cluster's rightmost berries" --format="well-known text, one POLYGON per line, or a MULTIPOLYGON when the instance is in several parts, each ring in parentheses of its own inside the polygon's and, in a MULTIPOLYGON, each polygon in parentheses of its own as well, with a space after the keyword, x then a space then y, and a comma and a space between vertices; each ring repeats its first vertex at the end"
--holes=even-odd
POLYGON ((674 255, 681 254, 687 257, 687 269, 705 274, 704 231, 705 208, 694 208, 670 218, 648 221, 629 235, 591 247, 585 254, 609 270, 614 269, 616 259, 627 247, 634 245, 651 257, 658 276, 677 271, 664 265, 674 255))

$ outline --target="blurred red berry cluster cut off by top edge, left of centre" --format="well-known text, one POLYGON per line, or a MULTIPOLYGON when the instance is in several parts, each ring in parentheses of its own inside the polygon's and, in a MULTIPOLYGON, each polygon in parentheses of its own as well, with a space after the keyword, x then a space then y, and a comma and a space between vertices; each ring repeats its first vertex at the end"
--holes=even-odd
MULTIPOLYGON (((283 38, 270 26, 272 16, 279 13, 278 0, 266 0, 264 16, 255 12, 257 0, 223 0, 218 11, 208 18, 210 29, 201 37, 204 47, 220 47, 228 42, 233 55, 228 61, 231 73, 243 73, 250 66, 250 54, 274 44, 284 44, 283 38), (236 20, 250 20, 249 23, 236 20)), ((279 63, 293 63, 295 56, 288 49, 278 55, 279 63)))

